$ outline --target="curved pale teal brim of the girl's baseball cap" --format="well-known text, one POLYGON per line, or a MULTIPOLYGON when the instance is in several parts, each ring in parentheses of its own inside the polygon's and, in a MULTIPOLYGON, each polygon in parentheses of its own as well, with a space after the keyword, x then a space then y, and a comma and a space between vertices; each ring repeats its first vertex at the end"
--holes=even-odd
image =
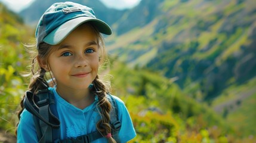
POLYGON ((91 17, 78 17, 61 24, 61 26, 57 27, 51 33, 45 36, 43 41, 49 43, 50 45, 57 45, 63 41, 67 35, 69 35, 69 33, 76 29, 76 27, 88 21, 91 21, 100 33, 105 35, 112 34, 110 26, 104 23, 104 21, 91 17))

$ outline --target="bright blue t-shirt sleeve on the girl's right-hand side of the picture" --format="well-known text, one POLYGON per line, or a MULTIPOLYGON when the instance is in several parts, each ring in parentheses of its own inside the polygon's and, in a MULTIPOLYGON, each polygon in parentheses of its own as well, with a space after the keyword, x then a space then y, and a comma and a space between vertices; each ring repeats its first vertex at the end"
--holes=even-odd
POLYGON ((118 97, 113 97, 115 98, 116 104, 118 105, 118 119, 121 122, 121 129, 119 130, 119 140, 121 142, 128 142, 136 136, 136 132, 124 102, 118 97))

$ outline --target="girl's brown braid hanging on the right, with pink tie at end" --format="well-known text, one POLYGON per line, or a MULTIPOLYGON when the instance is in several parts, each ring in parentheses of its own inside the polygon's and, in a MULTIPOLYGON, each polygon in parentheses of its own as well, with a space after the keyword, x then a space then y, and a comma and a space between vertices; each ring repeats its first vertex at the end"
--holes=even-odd
MULTIPOLYGON (((111 104, 109 100, 107 100, 106 94, 107 94, 107 88, 104 85, 103 82, 96 76, 94 79, 94 88, 96 89, 96 94, 98 95, 98 104, 97 107, 99 107, 101 120, 98 121, 96 127, 98 132, 101 133, 103 136, 107 136, 109 133, 111 133, 111 126, 109 124, 110 122, 110 115, 109 112, 111 110, 111 104)), ((115 139, 112 136, 108 136, 107 138, 108 142, 110 143, 116 143, 115 139)))

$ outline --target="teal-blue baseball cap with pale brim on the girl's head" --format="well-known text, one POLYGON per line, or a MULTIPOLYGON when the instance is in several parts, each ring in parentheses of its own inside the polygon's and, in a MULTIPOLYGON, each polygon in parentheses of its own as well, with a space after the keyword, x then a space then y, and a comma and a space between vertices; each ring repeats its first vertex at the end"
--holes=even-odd
POLYGON ((58 2, 42 15, 36 27, 36 48, 41 42, 57 45, 82 23, 92 23, 100 33, 111 35, 108 24, 95 17, 94 11, 74 2, 58 2))

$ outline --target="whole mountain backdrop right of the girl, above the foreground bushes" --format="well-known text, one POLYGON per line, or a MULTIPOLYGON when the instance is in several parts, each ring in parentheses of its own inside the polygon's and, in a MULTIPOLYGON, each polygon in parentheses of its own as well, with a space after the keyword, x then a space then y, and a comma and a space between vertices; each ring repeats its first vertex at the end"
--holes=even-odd
POLYGON ((252 1, 144 0, 116 22, 107 45, 129 67, 156 71, 189 97, 218 108, 232 126, 248 128, 241 131, 248 136, 255 134, 255 23, 252 1))

